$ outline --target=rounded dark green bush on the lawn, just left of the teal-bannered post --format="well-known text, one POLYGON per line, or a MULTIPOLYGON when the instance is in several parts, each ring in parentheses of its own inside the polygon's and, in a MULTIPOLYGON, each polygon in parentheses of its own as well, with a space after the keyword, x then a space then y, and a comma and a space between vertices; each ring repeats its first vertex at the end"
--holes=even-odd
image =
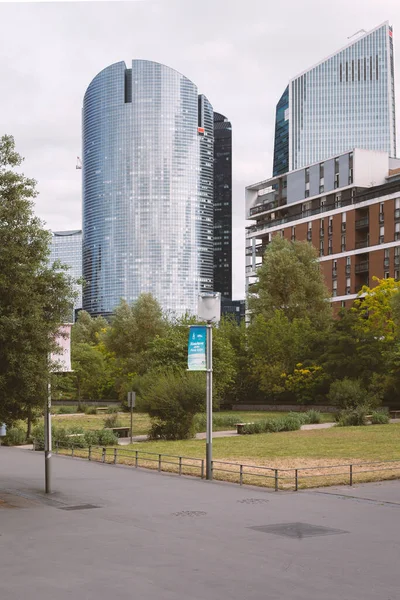
POLYGON ((150 437, 178 440, 194 434, 194 416, 204 406, 205 378, 201 373, 149 374, 141 398, 152 418, 150 437))

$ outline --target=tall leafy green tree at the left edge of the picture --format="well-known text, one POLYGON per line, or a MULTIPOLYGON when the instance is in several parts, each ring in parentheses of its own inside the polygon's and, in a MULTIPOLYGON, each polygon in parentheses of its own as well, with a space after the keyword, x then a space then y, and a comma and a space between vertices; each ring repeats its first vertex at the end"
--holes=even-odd
POLYGON ((35 181, 19 173, 14 138, 0 138, 0 422, 43 404, 49 352, 70 313, 73 280, 48 266, 50 232, 34 216, 35 181))

